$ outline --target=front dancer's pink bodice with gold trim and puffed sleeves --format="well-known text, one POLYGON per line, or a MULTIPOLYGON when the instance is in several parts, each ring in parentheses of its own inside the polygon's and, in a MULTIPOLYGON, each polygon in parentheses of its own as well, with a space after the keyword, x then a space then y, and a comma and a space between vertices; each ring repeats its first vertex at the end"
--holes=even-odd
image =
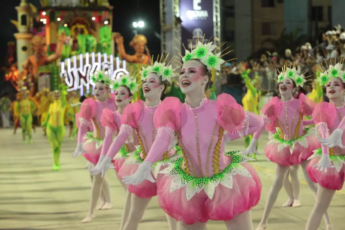
POLYGON ((217 101, 203 99, 195 109, 177 98, 166 98, 158 110, 155 125, 159 135, 146 160, 155 162, 172 142, 175 131, 184 152, 183 168, 195 177, 211 177, 231 163, 224 155, 224 133, 234 140, 264 124, 260 116, 245 111, 228 94, 221 94, 217 101))

